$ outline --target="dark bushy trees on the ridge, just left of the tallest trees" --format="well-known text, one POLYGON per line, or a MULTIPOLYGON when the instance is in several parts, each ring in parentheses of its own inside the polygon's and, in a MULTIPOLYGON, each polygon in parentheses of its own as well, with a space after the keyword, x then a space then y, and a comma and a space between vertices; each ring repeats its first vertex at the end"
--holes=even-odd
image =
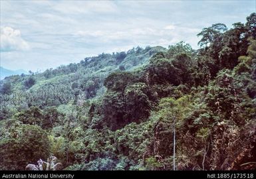
POLYGON ((146 70, 146 81, 150 84, 188 84, 192 82, 192 68, 195 62, 194 50, 189 44, 180 42, 169 46, 168 52, 160 52, 150 59, 146 70))

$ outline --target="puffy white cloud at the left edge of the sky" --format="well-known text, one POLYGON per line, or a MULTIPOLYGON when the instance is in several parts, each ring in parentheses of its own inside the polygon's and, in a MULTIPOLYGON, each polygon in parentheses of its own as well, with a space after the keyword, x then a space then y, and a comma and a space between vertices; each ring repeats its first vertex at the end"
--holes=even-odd
POLYGON ((29 44, 21 38, 21 31, 11 27, 1 27, 1 52, 29 50, 29 44))

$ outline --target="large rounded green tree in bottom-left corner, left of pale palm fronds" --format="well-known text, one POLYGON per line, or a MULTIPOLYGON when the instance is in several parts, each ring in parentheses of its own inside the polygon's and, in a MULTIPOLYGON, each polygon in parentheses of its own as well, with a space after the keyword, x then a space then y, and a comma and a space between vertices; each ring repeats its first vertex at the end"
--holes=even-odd
POLYGON ((1 139, 0 149, 1 170, 24 170, 27 164, 49 156, 49 141, 40 127, 13 123, 1 139))

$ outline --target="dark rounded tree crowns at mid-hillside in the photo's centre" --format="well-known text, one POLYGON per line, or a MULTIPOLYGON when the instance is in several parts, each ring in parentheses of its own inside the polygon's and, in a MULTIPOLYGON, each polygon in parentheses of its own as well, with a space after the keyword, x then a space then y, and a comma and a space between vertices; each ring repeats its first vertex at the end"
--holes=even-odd
POLYGON ((148 119, 154 97, 144 83, 126 86, 124 93, 108 91, 103 99, 104 121, 112 130, 148 119))

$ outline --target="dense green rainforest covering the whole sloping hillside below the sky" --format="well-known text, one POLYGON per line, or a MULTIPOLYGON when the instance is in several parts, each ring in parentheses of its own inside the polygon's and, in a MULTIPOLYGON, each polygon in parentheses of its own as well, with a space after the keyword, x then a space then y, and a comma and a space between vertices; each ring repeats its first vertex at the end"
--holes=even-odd
POLYGON ((0 169, 255 169, 256 13, 197 36, 1 80, 0 169))

